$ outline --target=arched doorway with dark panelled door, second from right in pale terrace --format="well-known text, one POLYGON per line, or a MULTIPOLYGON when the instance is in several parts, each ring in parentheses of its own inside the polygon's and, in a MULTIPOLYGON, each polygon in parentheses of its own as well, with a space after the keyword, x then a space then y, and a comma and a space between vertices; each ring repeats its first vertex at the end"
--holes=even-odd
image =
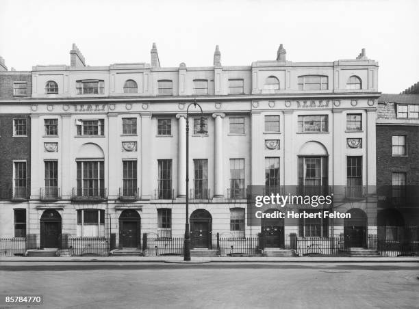
MULTIPOLYGON (((268 209, 264 213, 273 214, 277 209, 268 209)), ((284 230, 283 230, 283 219, 281 218, 272 218, 266 219, 262 218, 261 232, 264 237, 265 247, 285 247, 284 240, 284 230)))

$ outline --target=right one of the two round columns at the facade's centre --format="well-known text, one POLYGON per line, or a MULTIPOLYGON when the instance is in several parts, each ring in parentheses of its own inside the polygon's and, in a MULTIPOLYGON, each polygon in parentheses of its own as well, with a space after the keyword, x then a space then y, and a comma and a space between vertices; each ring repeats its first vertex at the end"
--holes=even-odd
POLYGON ((223 118, 224 113, 213 113, 215 118, 214 198, 224 198, 223 187, 223 118))

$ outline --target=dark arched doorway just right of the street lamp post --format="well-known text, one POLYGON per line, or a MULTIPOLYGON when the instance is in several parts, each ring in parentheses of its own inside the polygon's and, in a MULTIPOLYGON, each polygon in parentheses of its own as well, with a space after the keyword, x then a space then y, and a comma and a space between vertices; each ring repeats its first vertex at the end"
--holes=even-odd
POLYGON ((190 245, 192 248, 211 249, 212 216, 205 209, 197 209, 190 215, 190 245))

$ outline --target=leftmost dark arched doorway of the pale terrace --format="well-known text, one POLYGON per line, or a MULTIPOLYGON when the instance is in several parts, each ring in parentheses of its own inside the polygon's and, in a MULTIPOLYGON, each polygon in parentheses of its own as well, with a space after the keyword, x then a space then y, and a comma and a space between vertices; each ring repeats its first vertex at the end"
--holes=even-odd
POLYGON ((40 248, 59 248, 61 239, 61 215, 53 209, 40 217, 40 248))

